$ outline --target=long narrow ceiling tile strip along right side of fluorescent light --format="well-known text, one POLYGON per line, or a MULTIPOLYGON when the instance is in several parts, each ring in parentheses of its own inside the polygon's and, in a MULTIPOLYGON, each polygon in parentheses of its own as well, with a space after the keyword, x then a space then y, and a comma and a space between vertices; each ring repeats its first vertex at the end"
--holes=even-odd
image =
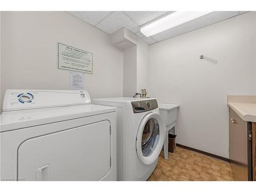
POLYGON ((157 41, 162 41, 184 33, 188 33, 190 31, 194 31, 196 29, 200 29, 211 24, 221 22, 222 20, 225 20, 233 16, 237 16, 238 14, 241 13, 239 11, 215 11, 207 15, 201 16, 199 18, 196 18, 194 20, 191 20, 182 25, 179 25, 177 27, 153 35, 152 37, 157 41))

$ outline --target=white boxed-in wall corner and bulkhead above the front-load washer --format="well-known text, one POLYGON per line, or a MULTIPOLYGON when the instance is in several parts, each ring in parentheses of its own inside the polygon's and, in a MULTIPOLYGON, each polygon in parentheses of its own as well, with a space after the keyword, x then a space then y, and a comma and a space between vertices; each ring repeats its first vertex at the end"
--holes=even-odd
POLYGON ((123 51, 123 96, 130 97, 141 89, 148 89, 149 45, 126 28, 111 34, 112 44, 123 39, 135 45, 123 51))

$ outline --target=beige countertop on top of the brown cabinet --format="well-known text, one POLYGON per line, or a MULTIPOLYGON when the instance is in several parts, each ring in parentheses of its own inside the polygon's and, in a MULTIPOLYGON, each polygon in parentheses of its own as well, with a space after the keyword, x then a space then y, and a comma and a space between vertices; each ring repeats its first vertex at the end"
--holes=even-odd
POLYGON ((256 122, 256 96, 228 96, 227 104, 244 121, 256 122))

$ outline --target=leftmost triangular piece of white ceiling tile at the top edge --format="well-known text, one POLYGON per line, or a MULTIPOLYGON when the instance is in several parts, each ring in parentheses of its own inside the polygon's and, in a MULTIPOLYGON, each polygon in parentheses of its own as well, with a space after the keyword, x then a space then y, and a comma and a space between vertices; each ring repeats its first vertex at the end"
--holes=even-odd
POLYGON ((68 13, 87 22, 91 25, 98 24, 103 18, 108 16, 111 11, 68 11, 68 13))

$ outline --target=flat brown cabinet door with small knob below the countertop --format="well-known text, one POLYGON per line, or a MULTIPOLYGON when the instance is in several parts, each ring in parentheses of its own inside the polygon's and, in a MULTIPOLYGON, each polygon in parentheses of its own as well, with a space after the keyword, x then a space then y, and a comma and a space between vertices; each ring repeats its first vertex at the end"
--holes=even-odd
POLYGON ((236 181, 247 181, 247 122, 231 109, 229 117, 229 156, 234 179, 236 181))

